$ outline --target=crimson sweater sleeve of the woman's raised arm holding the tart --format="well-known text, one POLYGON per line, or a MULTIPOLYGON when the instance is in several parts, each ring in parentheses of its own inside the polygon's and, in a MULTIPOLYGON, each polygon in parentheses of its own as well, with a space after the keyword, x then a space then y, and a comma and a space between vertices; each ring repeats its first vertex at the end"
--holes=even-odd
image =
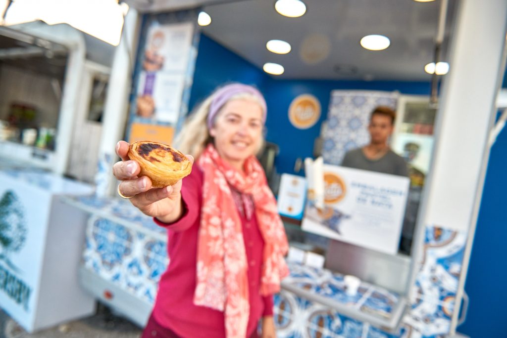
POLYGON ((164 223, 154 218, 153 220, 157 225, 179 232, 189 229, 197 221, 202 195, 202 174, 198 172, 199 169, 194 166, 192 173, 183 179, 183 216, 173 223, 164 223))

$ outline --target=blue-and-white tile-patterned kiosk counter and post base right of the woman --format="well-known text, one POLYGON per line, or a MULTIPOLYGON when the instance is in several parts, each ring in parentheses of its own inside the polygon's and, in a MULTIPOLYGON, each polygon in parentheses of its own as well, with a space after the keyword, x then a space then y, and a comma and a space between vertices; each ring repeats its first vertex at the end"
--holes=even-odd
MULTIPOLYGON (((275 297, 275 322, 278 337, 345 337, 345 338, 429 338, 449 332, 454 312, 454 298, 466 236, 463 233, 428 227, 424 255, 414 286, 410 309, 396 332, 386 332, 310 302, 292 292, 282 291, 275 297)), ((388 315, 397 295, 373 285, 361 284, 355 297, 348 297, 343 277, 309 267, 291 266, 291 284, 327 294, 336 301, 388 315)))

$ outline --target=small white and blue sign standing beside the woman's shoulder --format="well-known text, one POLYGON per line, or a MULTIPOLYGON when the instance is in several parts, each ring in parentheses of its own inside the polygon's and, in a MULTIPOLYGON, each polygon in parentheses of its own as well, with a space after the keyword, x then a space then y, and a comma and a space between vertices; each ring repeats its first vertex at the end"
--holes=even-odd
POLYGON ((301 220, 306 197, 306 179, 301 176, 282 174, 278 189, 278 213, 301 220))

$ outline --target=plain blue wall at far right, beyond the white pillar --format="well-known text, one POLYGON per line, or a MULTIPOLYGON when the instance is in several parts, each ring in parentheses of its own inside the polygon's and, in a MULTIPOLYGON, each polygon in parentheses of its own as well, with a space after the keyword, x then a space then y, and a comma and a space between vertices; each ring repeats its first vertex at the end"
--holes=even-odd
POLYGON ((481 208, 468 266, 465 291, 468 315, 458 331, 475 337, 507 337, 507 129, 491 148, 481 208))

